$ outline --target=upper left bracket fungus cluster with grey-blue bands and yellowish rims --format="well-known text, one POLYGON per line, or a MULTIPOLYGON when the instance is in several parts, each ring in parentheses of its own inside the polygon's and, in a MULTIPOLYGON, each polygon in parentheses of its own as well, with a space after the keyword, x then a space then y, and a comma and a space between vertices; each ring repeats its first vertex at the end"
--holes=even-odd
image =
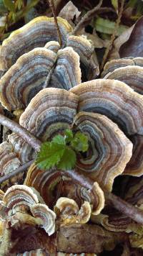
POLYGON ((71 36, 66 20, 59 17, 58 22, 63 49, 56 42, 54 19, 47 17, 33 19, 4 40, 0 69, 6 73, 0 79, 0 101, 9 111, 24 109, 42 88, 77 86, 81 69, 84 80, 99 74, 92 42, 71 36))

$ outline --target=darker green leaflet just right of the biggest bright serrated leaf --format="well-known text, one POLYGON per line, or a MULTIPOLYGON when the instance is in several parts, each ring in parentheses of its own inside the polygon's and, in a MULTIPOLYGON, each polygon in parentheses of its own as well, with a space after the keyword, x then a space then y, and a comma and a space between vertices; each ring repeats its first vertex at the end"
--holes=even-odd
POLYGON ((72 150, 70 147, 66 147, 64 150, 64 154, 62 155, 61 160, 57 165, 57 168, 61 170, 70 170, 74 168, 76 164, 76 160, 77 160, 77 157, 74 150, 72 150))

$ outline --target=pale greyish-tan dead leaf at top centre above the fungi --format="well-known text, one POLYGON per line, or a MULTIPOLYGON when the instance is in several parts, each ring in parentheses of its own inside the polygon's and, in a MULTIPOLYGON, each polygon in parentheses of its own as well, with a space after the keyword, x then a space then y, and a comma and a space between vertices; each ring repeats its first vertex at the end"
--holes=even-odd
POLYGON ((66 19, 67 21, 71 21, 74 19, 74 16, 76 19, 79 17, 81 12, 77 9, 77 7, 72 3, 72 1, 69 1, 63 9, 61 9, 61 12, 59 12, 59 17, 66 19))

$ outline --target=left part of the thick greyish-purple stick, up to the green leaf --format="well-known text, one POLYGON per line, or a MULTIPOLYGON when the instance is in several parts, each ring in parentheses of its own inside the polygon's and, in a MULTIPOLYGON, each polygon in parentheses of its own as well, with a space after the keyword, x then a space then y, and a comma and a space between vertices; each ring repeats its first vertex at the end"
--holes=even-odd
POLYGON ((21 127, 20 124, 17 124, 3 114, 0 114, 0 124, 11 129, 12 132, 19 134, 19 136, 22 137, 29 145, 31 145, 31 147, 33 147, 36 151, 39 151, 41 145, 40 140, 36 139, 36 137, 34 137, 34 135, 27 131, 24 127, 21 127))

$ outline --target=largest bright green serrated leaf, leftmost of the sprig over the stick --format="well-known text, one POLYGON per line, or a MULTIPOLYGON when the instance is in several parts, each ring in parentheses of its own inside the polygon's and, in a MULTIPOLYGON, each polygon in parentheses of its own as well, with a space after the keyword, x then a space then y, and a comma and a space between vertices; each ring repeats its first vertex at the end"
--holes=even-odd
POLYGON ((65 145, 54 142, 44 142, 37 154, 36 165, 43 170, 54 167, 61 160, 64 150, 65 145))

